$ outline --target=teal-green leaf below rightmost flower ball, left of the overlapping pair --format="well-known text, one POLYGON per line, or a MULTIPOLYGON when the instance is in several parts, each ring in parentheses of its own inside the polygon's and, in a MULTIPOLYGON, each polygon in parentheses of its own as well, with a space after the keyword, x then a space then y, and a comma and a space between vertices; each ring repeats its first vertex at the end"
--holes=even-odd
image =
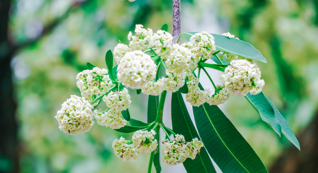
POLYGON ((273 130, 280 136, 281 126, 275 117, 273 106, 267 101, 263 92, 257 95, 251 95, 248 93, 245 98, 250 104, 259 112, 259 115, 263 121, 268 123, 273 130))

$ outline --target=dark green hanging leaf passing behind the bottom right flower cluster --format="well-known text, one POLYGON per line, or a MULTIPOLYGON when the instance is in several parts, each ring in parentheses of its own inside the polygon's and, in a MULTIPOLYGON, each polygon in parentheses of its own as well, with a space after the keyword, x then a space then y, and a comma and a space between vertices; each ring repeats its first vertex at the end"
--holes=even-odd
MULTIPOLYGON (((192 141, 194 138, 200 137, 197 133, 196 128, 190 118, 187 107, 184 103, 183 97, 180 92, 172 93, 171 98, 171 120, 173 131, 177 134, 182 134, 186 141, 192 141)), ((206 152, 205 148, 201 148, 201 153, 192 160, 190 158, 183 162, 184 168, 188 173, 192 172, 206 172, 206 173, 216 173, 213 163, 206 152)))

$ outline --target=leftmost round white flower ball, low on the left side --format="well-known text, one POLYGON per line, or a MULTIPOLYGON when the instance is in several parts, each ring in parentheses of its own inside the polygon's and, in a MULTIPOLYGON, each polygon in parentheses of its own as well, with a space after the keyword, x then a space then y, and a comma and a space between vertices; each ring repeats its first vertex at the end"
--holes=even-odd
POLYGON ((93 106, 85 98, 71 95, 55 116, 59 129, 72 135, 88 132, 94 125, 92 109, 93 106))

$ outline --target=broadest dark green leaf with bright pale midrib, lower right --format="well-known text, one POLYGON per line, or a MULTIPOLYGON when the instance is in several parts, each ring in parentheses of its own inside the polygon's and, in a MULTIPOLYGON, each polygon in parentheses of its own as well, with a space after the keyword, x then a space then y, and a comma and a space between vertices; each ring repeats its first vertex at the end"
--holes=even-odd
POLYGON ((268 173, 263 162, 216 105, 192 106, 198 132, 224 173, 268 173))

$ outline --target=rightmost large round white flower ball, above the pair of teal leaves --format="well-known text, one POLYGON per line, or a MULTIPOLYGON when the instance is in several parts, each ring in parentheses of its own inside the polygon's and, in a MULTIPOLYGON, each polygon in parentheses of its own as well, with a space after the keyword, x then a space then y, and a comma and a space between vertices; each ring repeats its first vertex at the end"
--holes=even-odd
POLYGON ((225 83, 226 91, 245 96, 248 92, 256 95, 262 91, 265 82, 260 77, 261 72, 256 64, 241 59, 231 61, 221 75, 221 80, 225 83))

